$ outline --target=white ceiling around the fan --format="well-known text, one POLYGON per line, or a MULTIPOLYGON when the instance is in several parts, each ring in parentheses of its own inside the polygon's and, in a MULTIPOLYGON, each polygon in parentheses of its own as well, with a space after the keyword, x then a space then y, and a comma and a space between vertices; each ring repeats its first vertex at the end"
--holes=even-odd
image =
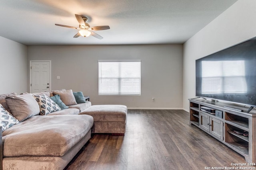
POLYGON ((237 0, 1 0, 0 36, 24 45, 184 43, 237 0), (74 14, 104 39, 73 38, 74 14))

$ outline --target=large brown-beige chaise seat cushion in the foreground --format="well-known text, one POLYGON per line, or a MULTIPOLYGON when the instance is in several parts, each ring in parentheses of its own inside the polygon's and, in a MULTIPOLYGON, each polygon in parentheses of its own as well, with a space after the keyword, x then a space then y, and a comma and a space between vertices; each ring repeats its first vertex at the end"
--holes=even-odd
POLYGON ((90 115, 30 117, 3 132, 4 156, 63 156, 92 125, 90 115))

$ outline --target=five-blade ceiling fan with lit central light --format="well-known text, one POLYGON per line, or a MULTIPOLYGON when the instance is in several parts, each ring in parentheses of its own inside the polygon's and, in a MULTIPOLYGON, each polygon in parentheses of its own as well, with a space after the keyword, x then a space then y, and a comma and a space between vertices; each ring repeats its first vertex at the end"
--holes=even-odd
POLYGON ((55 23, 55 25, 61 26, 61 27, 68 27, 68 28, 78 29, 79 31, 76 35, 74 35, 74 38, 77 38, 77 37, 80 37, 80 36, 88 37, 88 36, 92 35, 95 38, 102 39, 103 38, 102 36, 94 33, 93 31, 110 29, 110 27, 108 25, 90 27, 90 25, 86 22, 86 21, 88 21, 87 17, 82 17, 82 16, 77 15, 77 14, 75 14, 75 16, 76 16, 76 20, 79 23, 79 27, 72 27, 72 26, 61 25, 61 24, 57 24, 57 23, 55 23))

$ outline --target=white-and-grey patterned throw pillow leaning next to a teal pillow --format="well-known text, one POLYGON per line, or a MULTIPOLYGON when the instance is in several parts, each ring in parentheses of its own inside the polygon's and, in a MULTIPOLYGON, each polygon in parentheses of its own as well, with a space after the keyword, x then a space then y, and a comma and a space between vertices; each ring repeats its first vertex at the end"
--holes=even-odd
POLYGON ((46 95, 34 95, 34 98, 40 107, 40 115, 48 115, 54 111, 61 110, 61 108, 46 95))

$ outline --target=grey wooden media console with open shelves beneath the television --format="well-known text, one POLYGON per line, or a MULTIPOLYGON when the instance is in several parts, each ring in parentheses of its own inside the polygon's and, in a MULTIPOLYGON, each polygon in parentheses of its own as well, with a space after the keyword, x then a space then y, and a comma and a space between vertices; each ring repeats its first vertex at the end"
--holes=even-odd
POLYGON ((190 125, 195 125, 235 150, 244 156, 246 162, 256 163, 255 108, 246 113, 237 110, 248 110, 247 107, 235 104, 208 101, 203 98, 189 99, 189 102, 190 125), (222 115, 202 111, 202 106, 215 109, 218 113, 222 112, 222 115))

